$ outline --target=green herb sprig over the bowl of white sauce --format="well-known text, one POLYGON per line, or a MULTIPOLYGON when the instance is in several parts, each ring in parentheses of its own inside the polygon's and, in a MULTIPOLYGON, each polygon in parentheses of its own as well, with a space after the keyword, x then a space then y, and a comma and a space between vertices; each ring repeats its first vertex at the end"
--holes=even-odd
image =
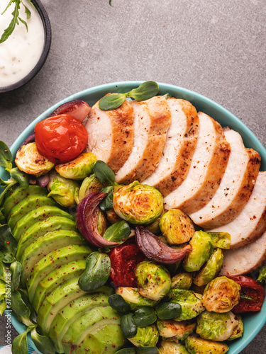
MULTIPOLYGON (((28 2, 33 6, 33 3, 31 2, 31 0, 28 0, 28 2)), ((15 4, 15 8, 12 12, 12 15, 13 15, 13 18, 11 20, 11 23, 9 23, 9 26, 4 30, 4 33, 1 35, 1 38, 0 38, 0 44, 3 43, 5 40, 7 40, 9 38, 9 36, 13 33, 13 30, 15 30, 16 28, 16 25, 19 24, 19 21, 21 21, 21 23, 23 23, 23 25, 26 26, 26 29, 28 31, 28 25, 26 23, 26 21, 24 21, 20 16, 19 16, 19 10, 21 8, 21 4, 24 6, 25 8, 25 13, 26 13, 26 16, 27 16, 27 20, 29 18, 31 18, 31 11, 30 9, 25 5, 23 4, 22 0, 10 0, 9 1, 9 4, 6 6, 6 8, 4 9, 4 11, 1 13, 1 15, 3 15, 6 10, 12 5, 12 4, 15 4)))

